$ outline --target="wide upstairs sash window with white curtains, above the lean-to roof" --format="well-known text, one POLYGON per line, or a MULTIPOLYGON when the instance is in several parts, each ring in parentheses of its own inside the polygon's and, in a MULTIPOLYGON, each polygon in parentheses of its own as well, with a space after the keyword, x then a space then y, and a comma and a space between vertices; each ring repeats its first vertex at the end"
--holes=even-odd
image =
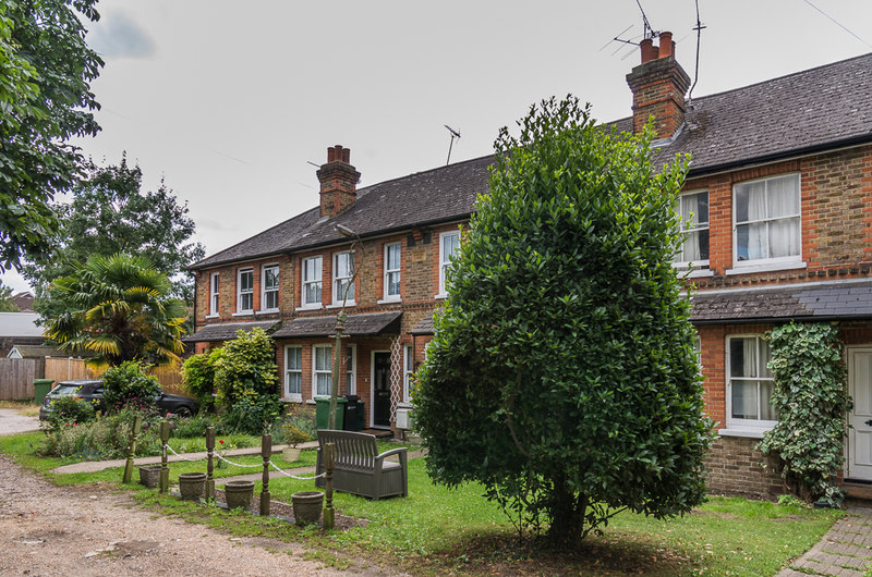
POLYGON ((737 184, 732 188, 736 266, 799 261, 799 174, 737 184))

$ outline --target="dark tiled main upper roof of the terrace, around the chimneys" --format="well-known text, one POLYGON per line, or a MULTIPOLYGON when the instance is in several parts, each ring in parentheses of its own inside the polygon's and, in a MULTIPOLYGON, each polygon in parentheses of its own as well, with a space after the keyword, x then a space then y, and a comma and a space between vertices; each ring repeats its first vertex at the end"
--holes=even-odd
MULTIPOLYGON (((629 90, 629 88, 628 88, 629 90)), ((689 176, 820 149, 872 142, 872 53, 693 99, 686 124, 658 148, 669 161, 692 155, 689 176)), ((632 119, 613 123, 621 131, 632 119)), ((347 242, 343 224, 362 237, 468 218, 487 192, 493 156, 458 162, 358 191, 341 214, 319 220, 318 208, 298 214, 191 270, 347 242)), ((362 167, 365 172, 365 167, 362 167)))

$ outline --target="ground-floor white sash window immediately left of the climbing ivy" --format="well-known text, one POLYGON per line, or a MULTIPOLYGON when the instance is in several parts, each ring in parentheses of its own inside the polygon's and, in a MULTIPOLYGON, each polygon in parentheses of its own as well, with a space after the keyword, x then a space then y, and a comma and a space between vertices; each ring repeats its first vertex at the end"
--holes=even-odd
POLYGON ((727 346, 727 428, 774 427, 768 343, 760 335, 730 336, 727 346))

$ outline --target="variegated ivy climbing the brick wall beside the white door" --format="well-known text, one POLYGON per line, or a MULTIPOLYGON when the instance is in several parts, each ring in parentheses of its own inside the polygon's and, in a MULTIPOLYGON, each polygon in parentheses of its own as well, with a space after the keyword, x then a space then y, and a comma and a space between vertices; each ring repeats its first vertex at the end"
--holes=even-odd
POLYGON ((795 494, 838 505, 844 494, 835 480, 845 465, 845 413, 852 406, 838 327, 791 322, 767 337, 778 422, 760 450, 795 494))

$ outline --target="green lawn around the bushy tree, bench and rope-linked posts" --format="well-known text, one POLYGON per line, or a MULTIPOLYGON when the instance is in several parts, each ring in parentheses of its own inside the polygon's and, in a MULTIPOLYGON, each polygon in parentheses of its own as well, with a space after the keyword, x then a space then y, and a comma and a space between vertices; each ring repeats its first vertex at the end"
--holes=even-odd
MULTIPOLYGON (((0 438, 0 451, 59 483, 120 480, 121 468, 97 474, 49 474, 69 459, 35 457, 33 449, 40 434, 0 438)), ((380 449, 386 446, 383 444, 380 449)), ((230 459, 240 464, 261 463, 259 455, 230 459)), ((307 466, 314 465, 315 454, 304 451, 293 464, 286 464, 278 454, 272 459, 280 467, 307 466)), ((368 501, 335 493, 338 513, 368 520, 365 526, 346 531, 299 529, 275 519, 181 502, 133 483, 122 487, 133 490, 144 505, 164 514, 234 535, 303 541, 313 550, 312 558, 326 565, 344 568, 355 560, 367 560, 399 565, 415 574, 773 575, 820 540, 843 514, 712 498, 692 514, 671 520, 622 513, 611 519, 603 537, 590 537, 576 551, 556 553, 535 541, 519 541, 499 507, 481 498, 482 487, 468 484, 449 490, 434 486, 422 459, 410 461, 409 469, 407 499, 368 501)), ((187 470, 205 470, 205 463, 170 465, 172 479, 187 470)), ((259 470, 227 466, 217 468, 215 475, 220 478, 259 470)), ((311 480, 284 477, 272 478, 269 483, 272 498, 284 502, 291 501, 292 493, 313 488, 311 480)), ((259 483, 256 491, 259 492, 259 483)))

